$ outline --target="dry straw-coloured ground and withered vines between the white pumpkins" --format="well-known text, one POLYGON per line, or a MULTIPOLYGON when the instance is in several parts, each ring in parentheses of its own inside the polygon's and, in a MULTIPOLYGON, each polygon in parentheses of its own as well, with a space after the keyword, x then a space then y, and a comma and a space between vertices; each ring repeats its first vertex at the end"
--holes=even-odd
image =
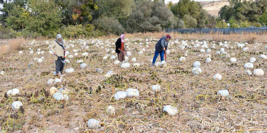
MULTIPOLYGON (((39 132, 230 132, 230 133, 263 133, 266 129, 266 60, 260 59, 259 55, 266 54, 265 44, 247 44, 249 48, 245 54, 242 49, 238 49, 232 42, 229 44, 234 49, 225 49, 229 54, 234 53, 237 59, 236 64, 229 62, 229 58, 221 57, 216 54, 221 47, 216 42, 216 49, 210 53, 211 63, 204 63, 205 58, 198 57, 207 53, 199 52, 200 48, 181 50, 181 42, 170 46, 171 54, 167 54, 168 66, 150 67, 149 59, 153 58, 154 44, 148 44, 145 47, 144 39, 149 36, 161 37, 165 33, 146 33, 143 38, 143 45, 146 51, 143 55, 138 55, 139 45, 127 41, 132 52, 131 58, 136 57, 138 63, 144 63, 144 66, 128 69, 120 68, 120 65, 114 65, 114 60, 103 60, 107 47, 96 48, 89 45, 89 50, 82 49, 83 44, 74 43, 75 47, 70 47, 68 51, 71 55, 74 49, 79 51, 79 55, 69 59, 70 64, 64 68, 73 68, 72 74, 64 73, 62 76, 67 80, 63 84, 69 92, 69 101, 56 101, 51 96, 45 97, 42 90, 49 90, 51 86, 46 84, 54 71, 54 60, 48 52, 48 45, 45 41, 38 41, 36 45, 24 45, 22 50, 25 54, 19 54, 11 51, 6 56, 6 62, 0 61, 5 75, 0 75, 0 128, 7 132, 21 130, 25 133, 39 132), (29 68, 27 64, 40 55, 28 54, 29 48, 37 51, 38 48, 45 51, 42 55, 45 60, 42 63, 35 62, 35 66, 29 68), (174 50, 172 50, 174 49, 174 50), (185 51, 188 51, 186 61, 178 62, 179 57, 185 51), (257 52, 256 52, 257 51, 257 52), (88 58, 82 57, 83 52, 88 52, 88 58), (244 73, 243 65, 251 57, 257 60, 254 69, 262 69, 264 76, 248 76, 244 73), (82 59, 90 67, 80 69, 77 60, 82 59), (201 62, 202 73, 194 75, 191 73, 194 61, 201 62), (96 68, 102 68, 103 74, 96 73, 96 68), (107 71, 113 70, 120 76, 123 76, 122 82, 116 80, 104 79, 103 75, 107 71), (223 77, 221 81, 213 80, 215 73, 220 73, 223 77), (139 81, 133 80, 139 79, 139 81), (161 85, 160 91, 152 91, 152 85, 161 85), (96 91, 99 85, 104 85, 100 91, 96 91), (90 94, 88 88, 92 87, 90 94), (4 97, 8 89, 18 88, 20 94, 4 97), (140 96, 133 98, 120 99, 116 101, 113 98, 114 93, 126 91, 127 88, 137 88, 140 96), (216 92, 221 89, 228 89, 230 96, 221 97, 216 92), (29 96, 39 90, 39 96, 29 96), (25 96, 27 93, 27 96, 25 96), (208 97, 211 96, 211 97, 208 97), (21 114, 18 110, 11 107, 12 102, 21 101, 25 113, 21 114), (116 108, 115 115, 106 114, 105 110, 109 105, 116 108), (176 116, 162 112, 165 105, 177 107, 176 116), (18 114, 18 119, 11 118, 11 114, 18 114), (86 122, 94 118, 101 122, 102 128, 97 130, 88 129, 86 122)), ((127 34, 128 37, 141 36, 142 34, 127 34)), ((174 37, 180 37, 176 34, 174 37)), ((191 36, 191 35, 190 35, 191 36)), ((112 37, 112 36, 110 36, 112 37)), ((114 36, 117 38, 117 36, 114 36)), ((194 36, 191 36, 194 37, 194 36)), ((198 36, 200 37, 200 36, 198 36)), ((112 39, 116 39, 112 38, 112 39)), ((242 37, 245 38, 245 37, 242 37)), ((106 38, 103 39, 103 43, 106 38)), ((227 38, 228 39, 228 38, 227 38)), ((201 40, 201 38, 198 38, 201 40)), ((245 41, 242 41, 245 42, 245 41)), ((67 42, 68 44, 73 44, 67 42)), ((140 43, 140 41, 137 41, 140 43)), ((188 44, 191 44, 188 42, 188 44)), ((213 43, 209 43, 209 47, 213 43)), ((111 48, 114 48, 112 46, 111 48)), ((109 53, 111 54, 111 53, 109 53)), ((115 54, 111 54, 115 55, 115 54)), ((159 60, 159 57, 157 61, 159 60)), ((132 65, 133 62, 129 61, 132 65)), ((250 69, 253 71, 254 69, 250 69)), ((55 85, 60 88, 60 85, 55 85)), ((1 130, 0 130, 1 131, 1 130)))

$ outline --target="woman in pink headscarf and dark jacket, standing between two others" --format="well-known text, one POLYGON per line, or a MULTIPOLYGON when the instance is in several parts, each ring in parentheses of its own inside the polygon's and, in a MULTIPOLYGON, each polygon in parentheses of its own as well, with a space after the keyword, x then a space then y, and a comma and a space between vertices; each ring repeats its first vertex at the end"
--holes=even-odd
POLYGON ((123 54, 123 50, 124 50, 124 39, 125 35, 121 34, 120 38, 116 41, 116 50, 115 52, 118 54, 118 59, 120 62, 124 61, 124 54, 123 54))

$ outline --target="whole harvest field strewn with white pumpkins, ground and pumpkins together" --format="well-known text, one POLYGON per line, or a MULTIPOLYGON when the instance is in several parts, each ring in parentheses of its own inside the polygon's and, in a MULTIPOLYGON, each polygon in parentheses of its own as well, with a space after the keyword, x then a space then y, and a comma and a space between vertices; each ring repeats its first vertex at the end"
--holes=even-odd
POLYGON ((267 46, 160 37, 67 43, 55 76, 51 40, 25 41, 0 60, 0 133, 267 132, 267 46))

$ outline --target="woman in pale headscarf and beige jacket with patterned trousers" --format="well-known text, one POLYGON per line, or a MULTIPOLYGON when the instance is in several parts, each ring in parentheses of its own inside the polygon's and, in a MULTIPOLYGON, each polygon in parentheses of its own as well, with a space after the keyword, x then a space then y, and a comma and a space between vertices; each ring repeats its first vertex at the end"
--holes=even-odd
POLYGON ((53 41, 50 50, 54 53, 53 59, 56 63, 56 76, 59 72, 62 74, 65 66, 65 52, 66 52, 66 42, 63 40, 60 34, 57 34, 56 40, 53 41))

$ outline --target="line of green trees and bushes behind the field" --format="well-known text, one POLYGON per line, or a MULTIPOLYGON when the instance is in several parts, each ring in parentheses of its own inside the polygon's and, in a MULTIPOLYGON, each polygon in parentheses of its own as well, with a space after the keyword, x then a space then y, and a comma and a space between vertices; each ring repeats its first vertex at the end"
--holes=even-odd
POLYGON ((215 18, 199 2, 180 0, 0 0, 0 35, 92 37, 163 28, 224 28, 265 25, 267 0, 224 6, 215 18), (227 25, 227 24, 226 24, 227 25))

